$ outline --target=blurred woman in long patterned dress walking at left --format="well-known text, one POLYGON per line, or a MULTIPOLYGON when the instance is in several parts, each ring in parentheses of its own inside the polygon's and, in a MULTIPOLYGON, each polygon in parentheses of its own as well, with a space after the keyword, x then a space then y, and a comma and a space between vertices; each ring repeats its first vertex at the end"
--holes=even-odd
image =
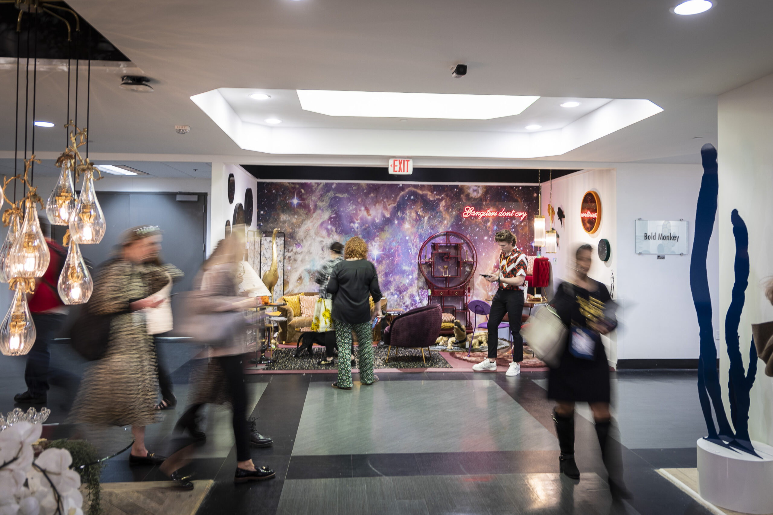
POLYGON ((158 369, 153 338, 145 327, 142 310, 158 307, 163 297, 162 277, 145 272, 143 263, 158 256, 161 229, 140 225, 121 234, 113 258, 100 266, 94 293, 84 309, 95 316, 110 317, 104 357, 87 366, 70 412, 70 422, 131 425, 135 442, 129 465, 162 462, 145 448, 145 426, 159 422, 158 369))

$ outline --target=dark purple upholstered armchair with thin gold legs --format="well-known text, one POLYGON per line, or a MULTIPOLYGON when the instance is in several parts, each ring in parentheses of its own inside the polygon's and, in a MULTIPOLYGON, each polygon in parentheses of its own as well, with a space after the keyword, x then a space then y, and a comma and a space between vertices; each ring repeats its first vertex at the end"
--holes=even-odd
POLYGON ((395 347, 395 356, 397 356, 397 347, 421 347, 421 357, 424 363, 427 363, 424 347, 435 344, 442 321, 443 310, 437 304, 417 307, 415 310, 406 311, 395 317, 383 332, 383 343, 389 346, 386 350, 386 361, 389 361, 392 347, 395 347))

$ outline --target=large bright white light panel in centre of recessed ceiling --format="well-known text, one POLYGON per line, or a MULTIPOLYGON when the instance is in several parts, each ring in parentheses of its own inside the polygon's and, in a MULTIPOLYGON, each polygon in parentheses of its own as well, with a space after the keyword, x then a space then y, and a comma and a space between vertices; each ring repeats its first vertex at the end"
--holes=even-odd
POLYGON ((332 117, 490 120, 521 114, 540 97, 298 90, 304 110, 332 117))

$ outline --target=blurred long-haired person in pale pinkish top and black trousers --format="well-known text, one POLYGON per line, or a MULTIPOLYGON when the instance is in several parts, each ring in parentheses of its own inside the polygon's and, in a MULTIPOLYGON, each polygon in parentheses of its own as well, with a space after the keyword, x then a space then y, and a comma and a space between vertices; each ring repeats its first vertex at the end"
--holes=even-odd
MULTIPOLYGON (((241 313, 261 304, 260 297, 250 298, 237 293, 237 263, 244 253, 241 233, 234 229, 232 235, 220 240, 196 275, 189 304, 196 313, 241 313)), ((207 403, 223 404, 230 401, 233 410, 233 437, 237 448, 234 482, 247 483, 274 477, 273 470, 265 466, 256 467, 250 456, 250 445, 271 446, 274 440, 257 432, 254 419, 247 421, 247 388, 244 384, 242 356, 247 353, 249 340, 247 327, 243 322, 234 326, 230 342, 208 347, 206 363, 199 365, 192 377, 189 408, 179 418, 175 430, 187 430, 193 439, 206 439, 206 435, 196 425, 199 409, 207 403)), ((182 461, 175 461, 166 463, 161 469, 172 479, 178 480, 180 476, 172 474, 184 464, 182 461)), ((179 487, 183 488, 189 482, 182 478, 179 483, 179 487)), ((190 487, 192 488, 192 483, 190 487)))

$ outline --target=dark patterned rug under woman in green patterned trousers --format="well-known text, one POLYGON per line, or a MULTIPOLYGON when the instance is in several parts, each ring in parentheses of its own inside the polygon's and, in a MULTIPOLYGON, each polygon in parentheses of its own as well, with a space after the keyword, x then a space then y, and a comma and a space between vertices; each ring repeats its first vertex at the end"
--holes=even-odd
MULTIPOLYGON (((274 351, 273 361, 268 364, 264 370, 338 370, 338 359, 336 358, 335 364, 323 367, 318 365, 317 361, 325 357, 324 347, 314 347, 314 356, 309 357, 308 353, 304 352, 301 357, 295 357, 295 349, 281 347, 274 351)), ((389 362, 386 362, 386 349, 380 349, 378 347, 373 348, 373 357, 375 368, 451 368, 451 364, 445 361, 445 358, 441 356, 438 351, 428 351, 424 349, 424 357, 427 358, 427 363, 421 359, 421 349, 397 349, 397 357, 394 357, 395 347, 392 347, 390 353, 389 362)), ((356 354, 356 353, 355 353, 356 354)), ((358 368, 356 365, 354 368, 358 368)))

